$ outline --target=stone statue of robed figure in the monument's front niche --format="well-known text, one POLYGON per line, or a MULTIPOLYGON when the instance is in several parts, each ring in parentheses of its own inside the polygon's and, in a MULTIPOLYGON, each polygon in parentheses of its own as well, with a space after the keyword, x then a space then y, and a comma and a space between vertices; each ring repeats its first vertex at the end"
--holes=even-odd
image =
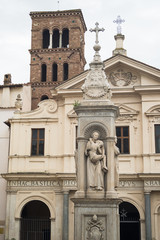
POLYGON ((101 191, 104 188, 104 173, 108 171, 103 141, 99 140, 98 131, 92 133, 92 138, 86 144, 87 185, 92 190, 101 191))

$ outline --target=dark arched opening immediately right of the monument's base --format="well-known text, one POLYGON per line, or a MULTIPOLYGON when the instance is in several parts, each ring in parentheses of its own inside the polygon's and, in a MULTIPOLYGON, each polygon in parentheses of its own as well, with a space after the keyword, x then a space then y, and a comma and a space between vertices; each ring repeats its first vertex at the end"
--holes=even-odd
POLYGON ((120 240, 141 240, 140 214, 137 208, 129 203, 119 205, 120 214, 120 240))

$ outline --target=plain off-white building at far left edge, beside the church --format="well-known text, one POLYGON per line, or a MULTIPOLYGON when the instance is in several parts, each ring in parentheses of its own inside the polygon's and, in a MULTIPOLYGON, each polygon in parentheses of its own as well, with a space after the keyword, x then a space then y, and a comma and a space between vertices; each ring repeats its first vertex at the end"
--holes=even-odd
MULTIPOLYGON (((24 110, 30 110, 30 86, 20 85, 1 85, 0 86, 0 173, 8 171, 8 153, 10 145, 10 129, 7 123, 9 118, 13 117, 15 101, 18 94, 21 94, 24 100, 24 110)), ((0 175, 0 239, 4 239, 5 216, 6 216, 6 181, 0 175)))

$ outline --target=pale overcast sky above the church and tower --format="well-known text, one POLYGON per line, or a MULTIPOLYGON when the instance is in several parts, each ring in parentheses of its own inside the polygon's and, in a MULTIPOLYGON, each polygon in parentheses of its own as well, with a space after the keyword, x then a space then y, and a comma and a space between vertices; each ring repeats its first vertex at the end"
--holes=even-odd
POLYGON ((128 57, 160 69, 160 0, 1 0, 0 4, 0 84, 4 74, 12 74, 12 83, 30 81, 31 11, 81 9, 88 31, 85 56, 91 62, 95 34, 89 32, 99 22, 105 31, 99 34, 101 58, 106 60, 115 49, 114 35, 118 15, 125 22, 124 48, 128 57))

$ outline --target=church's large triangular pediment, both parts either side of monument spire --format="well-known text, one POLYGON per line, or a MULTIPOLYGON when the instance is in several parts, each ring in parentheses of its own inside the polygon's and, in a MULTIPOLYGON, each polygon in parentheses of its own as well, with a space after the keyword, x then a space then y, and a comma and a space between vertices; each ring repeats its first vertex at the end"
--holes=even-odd
MULTIPOLYGON (((160 69, 136 61, 124 55, 116 55, 104 61, 104 69, 111 88, 132 87, 142 85, 159 85, 160 69), (142 77, 143 75, 143 77, 142 77), (112 81, 111 81, 112 80, 112 81)), ((89 70, 65 81, 55 88, 58 92, 79 91, 89 70)))

